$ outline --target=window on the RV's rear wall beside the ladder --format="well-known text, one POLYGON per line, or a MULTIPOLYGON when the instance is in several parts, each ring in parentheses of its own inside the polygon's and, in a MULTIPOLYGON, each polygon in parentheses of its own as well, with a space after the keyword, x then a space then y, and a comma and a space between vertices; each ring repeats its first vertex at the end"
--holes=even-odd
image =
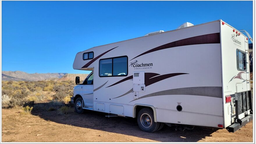
POLYGON ((237 70, 247 71, 246 53, 237 49, 237 70))

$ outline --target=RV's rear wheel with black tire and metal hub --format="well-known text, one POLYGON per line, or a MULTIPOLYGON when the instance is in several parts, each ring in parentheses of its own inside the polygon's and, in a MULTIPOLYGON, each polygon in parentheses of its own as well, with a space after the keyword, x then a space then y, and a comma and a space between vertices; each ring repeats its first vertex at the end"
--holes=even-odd
POLYGON ((160 122, 154 122, 154 113, 150 109, 143 108, 137 115, 137 122, 142 131, 154 132, 160 127, 160 122))

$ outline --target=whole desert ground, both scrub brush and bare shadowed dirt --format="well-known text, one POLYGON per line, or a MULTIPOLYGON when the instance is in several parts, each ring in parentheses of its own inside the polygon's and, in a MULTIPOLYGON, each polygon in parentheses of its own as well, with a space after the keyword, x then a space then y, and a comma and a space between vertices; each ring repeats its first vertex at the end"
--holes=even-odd
POLYGON ((135 118, 78 114, 70 104, 73 88, 72 81, 2 81, 2 142, 253 142, 253 122, 235 133, 205 127, 175 131, 167 125, 147 133, 135 118))

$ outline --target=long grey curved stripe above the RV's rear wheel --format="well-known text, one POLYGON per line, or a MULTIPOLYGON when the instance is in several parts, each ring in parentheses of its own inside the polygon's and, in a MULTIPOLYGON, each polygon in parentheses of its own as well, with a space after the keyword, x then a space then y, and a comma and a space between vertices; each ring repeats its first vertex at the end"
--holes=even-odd
MULTIPOLYGON (((142 97, 139 97, 138 99, 143 99, 146 97, 154 97, 159 95, 199 95, 199 96, 206 96, 206 97, 222 98, 222 87, 221 86, 203 86, 203 87, 175 88, 175 89, 163 90, 156 93, 144 95, 142 97)), ((138 99, 134 99, 132 101, 135 101, 138 99)))

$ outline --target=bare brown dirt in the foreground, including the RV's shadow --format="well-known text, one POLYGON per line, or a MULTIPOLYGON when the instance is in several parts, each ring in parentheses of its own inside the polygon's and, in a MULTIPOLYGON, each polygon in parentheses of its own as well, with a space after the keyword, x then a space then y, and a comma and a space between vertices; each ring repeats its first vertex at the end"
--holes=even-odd
POLYGON ((58 111, 2 109, 2 142, 253 142, 253 122, 229 133, 226 129, 195 127, 175 131, 165 126, 154 133, 139 129, 136 119, 105 117, 105 113, 86 111, 77 114, 70 108, 58 111))

